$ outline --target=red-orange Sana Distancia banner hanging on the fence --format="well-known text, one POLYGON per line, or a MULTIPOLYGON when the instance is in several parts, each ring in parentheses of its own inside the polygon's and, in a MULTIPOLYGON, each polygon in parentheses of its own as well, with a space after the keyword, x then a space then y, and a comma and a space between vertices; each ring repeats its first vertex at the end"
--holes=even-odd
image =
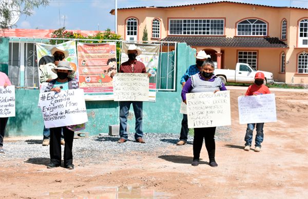
POLYGON ((112 100, 111 73, 117 72, 115 42, 78 43, 77 51, 80 88, 88 94, 85 96, 86 99, 98 95, 103 97, 102 94, 106 94, 104 99, 112 100))

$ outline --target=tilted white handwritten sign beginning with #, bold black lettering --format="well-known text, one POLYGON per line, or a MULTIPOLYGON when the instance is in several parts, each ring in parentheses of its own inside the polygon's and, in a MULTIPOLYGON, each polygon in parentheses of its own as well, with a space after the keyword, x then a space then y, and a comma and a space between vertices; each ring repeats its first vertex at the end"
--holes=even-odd
POLYGON ((83 124, 88 121, 84 91, 41 93, 39 102, 46 128, 83 124))

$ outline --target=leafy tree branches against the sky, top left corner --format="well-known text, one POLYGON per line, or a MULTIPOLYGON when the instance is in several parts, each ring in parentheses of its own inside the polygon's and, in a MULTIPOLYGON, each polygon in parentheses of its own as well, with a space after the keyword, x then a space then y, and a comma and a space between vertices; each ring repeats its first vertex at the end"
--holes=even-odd
POLYGON ((47 6, 49 0, 0 0, 0 28, 10 28, 13 14, 20 13, 30 16, 34 8, 47 6))

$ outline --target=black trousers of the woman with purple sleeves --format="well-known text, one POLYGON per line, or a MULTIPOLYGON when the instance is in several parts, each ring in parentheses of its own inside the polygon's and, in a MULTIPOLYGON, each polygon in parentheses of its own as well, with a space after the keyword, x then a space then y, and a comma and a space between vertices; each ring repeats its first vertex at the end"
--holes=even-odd
POLYGON ((215 160, 215 131, 216 127, 207 128, 194 128, 194 145, 192 146, 194 150, 194 160, 199 160, 200 152, 203 144, 203 139, 205 141, 205 147, 208 153, 209 161, 215 160))

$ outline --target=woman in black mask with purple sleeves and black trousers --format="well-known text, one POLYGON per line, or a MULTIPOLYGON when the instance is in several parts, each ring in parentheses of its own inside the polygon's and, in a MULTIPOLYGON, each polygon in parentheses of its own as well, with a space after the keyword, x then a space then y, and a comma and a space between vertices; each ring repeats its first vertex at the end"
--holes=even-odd
MULTIPOLYGON (((182 90, 182 99, 186 103, 186 93, 199 93, 199 92, 214 92, 226 91, 226 87, 222 83, 219 77, 214 75, 214 62, 211 59, 206 59, 201 67, 201 71, 195 75, 192 75, 185 83, 182 90)), ((199 165, 200 152, 205 141, 205 147, 208 153, 209 166, 217 167, 218 164, 215 161, 215 131, 216 127, 194 128, 194 145, 192 147, 194 151, 194 159, 192 160, 192 166, 199 165)))

